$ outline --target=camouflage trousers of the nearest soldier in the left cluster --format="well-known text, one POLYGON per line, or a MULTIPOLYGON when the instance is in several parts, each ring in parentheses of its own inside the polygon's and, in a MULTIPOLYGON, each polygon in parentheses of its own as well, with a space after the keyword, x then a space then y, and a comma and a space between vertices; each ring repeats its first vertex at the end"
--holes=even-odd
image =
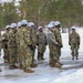
POLYGON ((32 63, 32 52, 30 48, 20 46, 20 61, 23 68, 30 68, 32 63))

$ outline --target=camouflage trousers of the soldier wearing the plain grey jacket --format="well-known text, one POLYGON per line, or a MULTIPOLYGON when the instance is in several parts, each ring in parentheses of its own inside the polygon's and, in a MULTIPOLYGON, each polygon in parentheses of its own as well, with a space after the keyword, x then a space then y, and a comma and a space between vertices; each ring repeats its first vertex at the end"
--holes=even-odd
POLYGON ((55 64, 59 61, 58 48, 55 45, 50 44, 50 64, 55 64))

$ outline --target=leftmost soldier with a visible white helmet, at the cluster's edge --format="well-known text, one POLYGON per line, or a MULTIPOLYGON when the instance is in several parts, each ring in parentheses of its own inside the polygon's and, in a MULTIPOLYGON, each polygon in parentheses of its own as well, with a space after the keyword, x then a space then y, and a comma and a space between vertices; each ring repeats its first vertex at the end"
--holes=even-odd
POLYGON ((9 62, 9 50, 8 50, 8 33, 10 31, 10 25, 6 27, 6 32, 2 35, 2 45, 3 45, 3 52, 4 52, 4 63, 9 62))

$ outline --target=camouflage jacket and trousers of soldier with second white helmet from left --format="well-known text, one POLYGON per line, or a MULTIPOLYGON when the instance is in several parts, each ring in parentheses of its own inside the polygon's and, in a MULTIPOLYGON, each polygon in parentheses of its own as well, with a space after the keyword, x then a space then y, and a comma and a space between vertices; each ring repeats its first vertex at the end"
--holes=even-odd
POLYGON ((17 38, 14 29, 11 29, 8 33, 8 49, 10 54, 10 65, 14 65, 17 61, 17 38))

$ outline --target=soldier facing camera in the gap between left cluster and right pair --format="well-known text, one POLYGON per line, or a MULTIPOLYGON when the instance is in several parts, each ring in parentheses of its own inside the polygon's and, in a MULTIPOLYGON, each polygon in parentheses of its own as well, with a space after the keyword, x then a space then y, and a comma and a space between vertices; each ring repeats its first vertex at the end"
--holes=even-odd
POLYGON ((38 60, 44 60, 43 54, 45 52, 45 45, 46 45, 46 35, 43 32, 43 28, 39 27, 37 33, 37 45, 38 45, 38 60))

